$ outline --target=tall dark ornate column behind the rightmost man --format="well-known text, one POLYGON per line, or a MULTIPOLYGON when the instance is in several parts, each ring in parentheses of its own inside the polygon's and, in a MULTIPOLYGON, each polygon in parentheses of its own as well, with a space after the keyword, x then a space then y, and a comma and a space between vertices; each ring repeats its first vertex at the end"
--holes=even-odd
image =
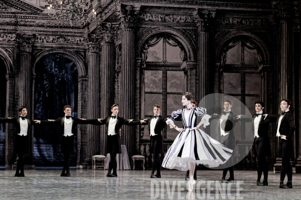
MULTIPOLYGON (((279 22, 279 37, 277 47, 278 58, 278 99, 280 100, 288 98, 293 103, 293 24, 292 16, 294 14, 294 4, 288 0, 273 1, 272 7, 275 9, 275 20, 279 22)), ((280 113, 280 107, 278 106, 278 113, 280 113)), ((294 115, 293 109, 290 110, 294 115)), ((279 141, 277 141, 278 145, 279 141)), ((278 150, 277 150, 278 151, 278 150)), ((292 161, 294 162, 294 161, 292 161)), ((276 163, 274 164, 274 172, 280 172, 281 157, 278 154, 276 163)))

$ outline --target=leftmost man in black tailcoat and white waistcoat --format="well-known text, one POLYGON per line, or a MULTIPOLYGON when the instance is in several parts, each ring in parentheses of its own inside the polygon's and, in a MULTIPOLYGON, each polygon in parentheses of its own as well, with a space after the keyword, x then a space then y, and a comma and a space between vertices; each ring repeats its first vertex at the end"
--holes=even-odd
POLYGON ((39 123, 40 121, 27 119, 27 108, 21 106, 19 108, 19 117, 9 117, 1 118, 0 123, 14 123, 16 127, 16 139, 15 139, 15 151, 18 154, 17 170, 15 176, 25 176, 24 175, 24 153, 29 152, 29 142, 31 138, 31 125, 39 123))

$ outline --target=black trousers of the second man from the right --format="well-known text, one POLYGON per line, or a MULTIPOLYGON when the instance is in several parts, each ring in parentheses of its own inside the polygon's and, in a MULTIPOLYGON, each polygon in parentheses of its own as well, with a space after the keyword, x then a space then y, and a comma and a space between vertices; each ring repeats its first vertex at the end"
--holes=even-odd
POLYGON ((256 137, 255 145, 257 152, 257 181, 260 181, 263 172, 263 182, 267 182, 268 165, 265 156, 265 139, 266 137, 256 137))

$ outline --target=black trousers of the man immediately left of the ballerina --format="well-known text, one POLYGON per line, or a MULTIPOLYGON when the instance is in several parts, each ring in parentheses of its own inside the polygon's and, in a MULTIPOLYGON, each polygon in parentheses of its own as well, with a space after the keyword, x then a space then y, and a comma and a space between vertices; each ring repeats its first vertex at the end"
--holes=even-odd
POLYGON ((150 148, 152 149, 154 153, 154 160, 152 164, 152 174, 155 173, 155 170, 157 169, 157 175, 161 176, 161 158, 159 156, 160 153, 160 141, 159 141, 159 135, 154 135, 152 137, 152 143, 150 144, 150 148))

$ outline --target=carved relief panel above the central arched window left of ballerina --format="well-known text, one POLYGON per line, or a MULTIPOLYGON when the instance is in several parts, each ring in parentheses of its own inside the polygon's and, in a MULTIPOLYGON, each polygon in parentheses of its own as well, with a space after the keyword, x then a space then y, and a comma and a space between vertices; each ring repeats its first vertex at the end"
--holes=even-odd
POLYGON ((159 14, 159 13, 141 13, 141 20, 159 21, 159 22, 194 22, 193 15, 188 14, 159 14))

